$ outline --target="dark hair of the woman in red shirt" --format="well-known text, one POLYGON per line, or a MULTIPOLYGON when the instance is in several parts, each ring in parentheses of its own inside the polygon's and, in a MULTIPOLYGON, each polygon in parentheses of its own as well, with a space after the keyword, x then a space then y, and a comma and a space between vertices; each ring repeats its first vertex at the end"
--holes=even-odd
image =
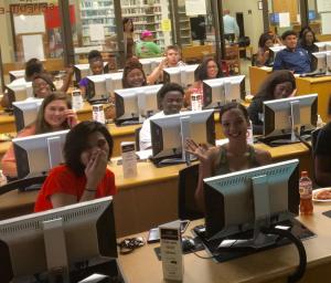
POLYGON ((96 132, 100 133, 107 140, 109 147, 108 159, 110 159, 114 140, 105 125, 95 120, 84 120, 73 127, 66 135, 63 147, 64 160, 66 166, 77 176, 84 175, 85 166, 81 161, 81 155, 89 148, 88 137, 96 132))

